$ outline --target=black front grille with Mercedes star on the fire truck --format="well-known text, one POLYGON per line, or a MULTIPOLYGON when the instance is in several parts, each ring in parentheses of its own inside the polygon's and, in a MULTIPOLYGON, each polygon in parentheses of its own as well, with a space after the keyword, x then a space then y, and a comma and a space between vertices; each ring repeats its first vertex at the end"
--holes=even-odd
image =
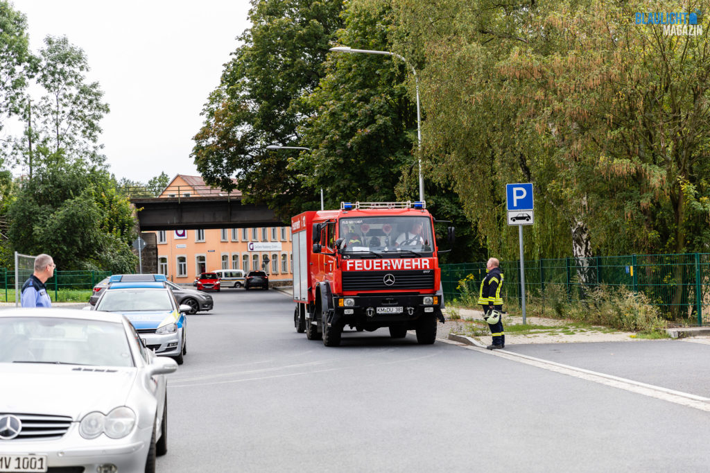
POLYGON ((425 271, 344 271, 343 290, 432 289, 434 271, 425 271))

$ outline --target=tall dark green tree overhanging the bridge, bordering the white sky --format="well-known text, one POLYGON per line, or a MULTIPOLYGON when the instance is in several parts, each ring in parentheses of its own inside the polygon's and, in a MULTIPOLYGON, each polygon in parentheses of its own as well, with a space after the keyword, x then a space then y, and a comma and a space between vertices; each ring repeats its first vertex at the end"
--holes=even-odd
POLYGON ((252 5, 253 26, 239 37, 243 44, 209 96, 192 156, 207 184, 234 190, 236 175, 248 200, 266 202, 290 217, 317 196, 288 172, 288 155, 266 146, 300 141, 297 126, 313 113, 300 98, 323 75, 342 2, 255 0, 252 5))

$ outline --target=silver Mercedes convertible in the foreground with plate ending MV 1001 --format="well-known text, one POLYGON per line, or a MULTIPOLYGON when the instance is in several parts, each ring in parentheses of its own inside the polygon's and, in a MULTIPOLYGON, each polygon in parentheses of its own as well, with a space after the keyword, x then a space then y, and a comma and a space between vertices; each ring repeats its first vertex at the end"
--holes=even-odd
POLYGON ((123 315, 0 310, 0 472, 153 472, 177 368, 123 315))

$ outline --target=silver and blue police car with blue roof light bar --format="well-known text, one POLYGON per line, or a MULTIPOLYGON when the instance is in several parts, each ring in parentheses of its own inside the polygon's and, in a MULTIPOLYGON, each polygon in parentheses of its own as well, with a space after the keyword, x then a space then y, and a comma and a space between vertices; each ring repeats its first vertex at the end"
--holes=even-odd
POLYGON ((178 305, 162 274, 115 274, 94 310, 125 315, 143 344, 182 364, 187 354, 189 305, 178 305))

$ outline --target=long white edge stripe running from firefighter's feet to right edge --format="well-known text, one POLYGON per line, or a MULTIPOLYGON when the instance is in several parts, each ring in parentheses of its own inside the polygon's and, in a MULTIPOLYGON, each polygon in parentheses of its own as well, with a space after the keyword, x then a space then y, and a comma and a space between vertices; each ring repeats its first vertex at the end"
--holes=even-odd
POLYGON ((652 384, 645 384, 639 381, 633 381, 632 379, 620 378, 611 374, 590 371, 589 369, 577 368, 577 366, 556 363, 555 361, 529 357, 528 355, 520 353, 508 352, 506 350, 488 350, 484 344, 481 344, 477 340, 474 340, 471 337, 465 338, 468 339, 474 346, 446 339, 437 339, 437 342, 459 345, 460 347, 488 354, 493 357, 509 359, 510 361, 528 364, 537 368, 546 369, 547 371, 566 374, 567 376, 574 376, 575 378, 604 384, 613 388, 623 389, 624 391, 630 391, 632 393, 641 394, 650 398, 676 403, 680 406, 710 412, 710 398, 704 398, 703 396, 696 396, 695 394, 684 393, 682 391, 674 391, 673 389, 662 388, 661 386, 654 386, 652 384))

